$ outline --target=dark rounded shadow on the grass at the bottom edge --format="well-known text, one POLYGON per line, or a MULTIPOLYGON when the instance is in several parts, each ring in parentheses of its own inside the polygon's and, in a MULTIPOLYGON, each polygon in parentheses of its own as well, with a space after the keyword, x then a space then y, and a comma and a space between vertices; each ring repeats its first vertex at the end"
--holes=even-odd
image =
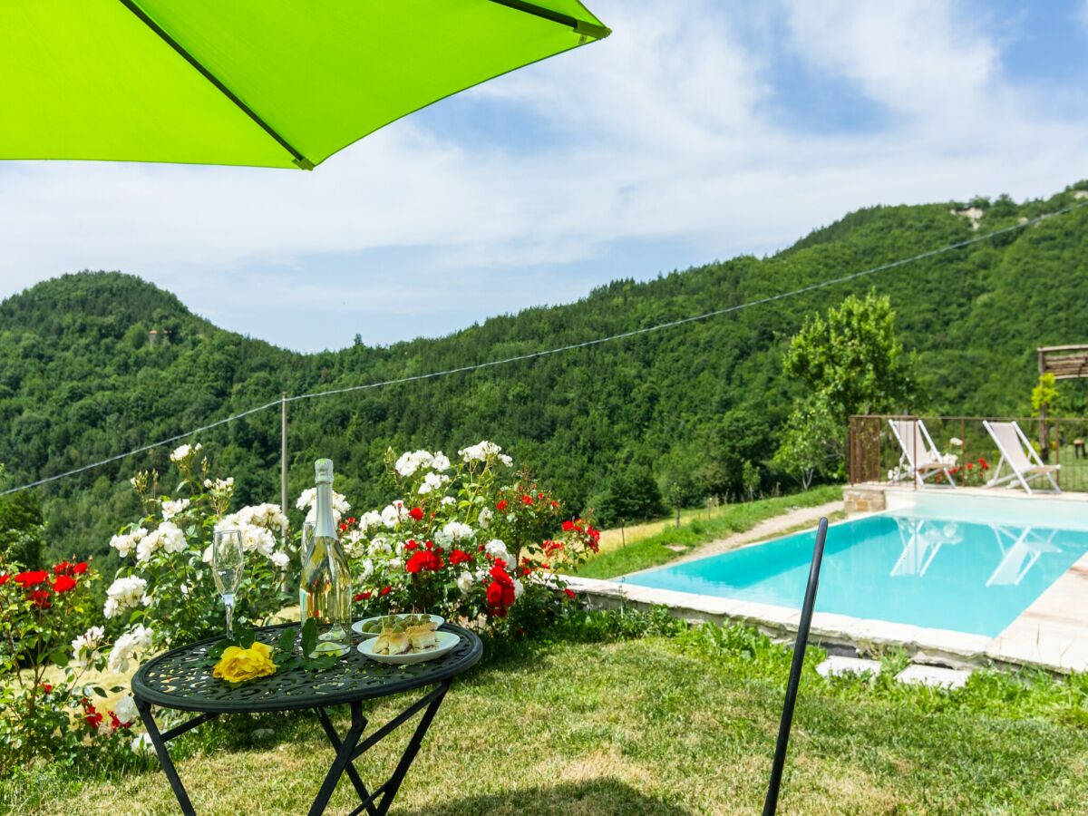
POLYGON ((394 809, 403 816, 689 816, 691 811, 647 796, 631 786, 610 777, 582 782, 559 782, 540 788, 519 788, 507 793, 467 796, 428 805, 415 811, 394 809))

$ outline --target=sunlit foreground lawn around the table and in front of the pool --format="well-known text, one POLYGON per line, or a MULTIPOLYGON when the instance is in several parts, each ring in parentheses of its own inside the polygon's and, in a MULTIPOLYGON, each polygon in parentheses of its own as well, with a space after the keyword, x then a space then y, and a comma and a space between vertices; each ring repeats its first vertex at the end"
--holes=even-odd
MULTIPOLYGON (((679 631, 653 620, 595 613, 552 642, 492 656, 454 685, 393 813, 757 812, 789 651, 753 630, 679 631)), ((781 813, 1088 812, 1085 677, 982 672, 957 692, 829 682, 814 671, 815 652, 781 813)), ((374 720, 393 709, 379 706, 374 720)), ((305 813, 332 759, 307 715, 208 724, 177 743, 181 775, 205 814, 305 813), (269 735, 255 732, 269 726, 269 735)), ((373 752, 360 771, 379 776, 373 752)), ((351 795, 344 780, 330 812, 346 813, 351 795)), ((175 812, 148 764, 22 771, 0 781, 3 808, 175 812)))

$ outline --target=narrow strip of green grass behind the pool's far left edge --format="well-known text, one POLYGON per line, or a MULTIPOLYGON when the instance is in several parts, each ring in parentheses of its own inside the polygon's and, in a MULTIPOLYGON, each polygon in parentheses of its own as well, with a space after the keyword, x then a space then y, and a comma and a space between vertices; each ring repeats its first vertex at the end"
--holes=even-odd
POLYGON ((793 507, 816 507, 841 498, 842 486, 827 484, 791 496, 726 505, 719 508, 713 518, 696 518, 679 528, 665 529, 656 535, 642 539, 626 547, 603 552, 583 565, 578 574, 583 578, 616 578, 640 569, 656 567, 683 555, 669 549, 667 544, 688 547, 706 544, 733 533, 746 532, 761 521, 787 512, 793 507))

